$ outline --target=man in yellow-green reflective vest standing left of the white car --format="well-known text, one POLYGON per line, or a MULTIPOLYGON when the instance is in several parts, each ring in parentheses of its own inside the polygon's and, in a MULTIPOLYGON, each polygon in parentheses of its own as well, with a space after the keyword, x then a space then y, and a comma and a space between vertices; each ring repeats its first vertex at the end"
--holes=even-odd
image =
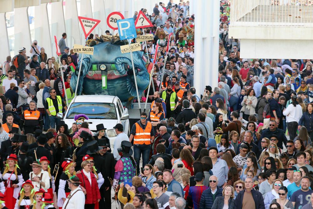
POLYGON ((47 111, 47 114, 50 117, 50 127, 55 128, 55 124, 59 124, 61 119, 57 117, 57 113, 62 113, 62 108, 64 107, 67 110, 62 98, 57 96, 55 89, 49 90, 50 97, 47 98, 47 101, 44 104, 44 108, 47 111))

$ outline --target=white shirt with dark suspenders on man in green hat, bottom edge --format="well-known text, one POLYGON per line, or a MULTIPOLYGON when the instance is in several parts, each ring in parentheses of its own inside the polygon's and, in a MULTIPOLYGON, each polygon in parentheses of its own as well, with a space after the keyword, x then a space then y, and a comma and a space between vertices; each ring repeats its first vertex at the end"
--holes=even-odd
POLYGON ((64 202, 64 205, 63 205, 64 209, 72 209, 72 208, 84 209, 85 208, 85 194, 80 189, 80 187, 77 187, 76 189, 71 191, 69 196, 66 198, 66 200, 64 202), (71 196, 70 199, 69 199, 69 196, 71 196))

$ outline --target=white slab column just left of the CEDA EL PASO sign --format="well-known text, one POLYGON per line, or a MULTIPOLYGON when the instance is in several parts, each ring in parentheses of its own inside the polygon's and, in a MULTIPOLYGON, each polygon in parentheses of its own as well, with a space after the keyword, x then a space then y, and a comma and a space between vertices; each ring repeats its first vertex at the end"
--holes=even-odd
POLYGON ((76 0, 66 0, 65 4, 65 26, 67 34, 67 45, 71 49, 74 44, 84 44, 80 40, 80 26, 78 21, 76 0))

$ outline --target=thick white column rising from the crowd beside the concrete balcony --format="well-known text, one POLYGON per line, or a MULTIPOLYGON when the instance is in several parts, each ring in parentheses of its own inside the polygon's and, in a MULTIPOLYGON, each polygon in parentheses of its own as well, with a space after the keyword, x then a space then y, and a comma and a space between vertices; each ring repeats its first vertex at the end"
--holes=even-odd
POLYGON ((219 1, 198 0, 193 6, 197 11, 193 83, 200 95, 206 85, 218 86, 219 1))

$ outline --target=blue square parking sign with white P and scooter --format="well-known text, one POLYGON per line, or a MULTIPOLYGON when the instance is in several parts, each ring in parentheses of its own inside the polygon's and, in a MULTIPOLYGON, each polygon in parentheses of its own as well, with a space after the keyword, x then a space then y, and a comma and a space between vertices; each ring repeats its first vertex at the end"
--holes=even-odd
POLYGON ((137 37, 134 18, 117 20, 120 40, 134 39, 137 37))

